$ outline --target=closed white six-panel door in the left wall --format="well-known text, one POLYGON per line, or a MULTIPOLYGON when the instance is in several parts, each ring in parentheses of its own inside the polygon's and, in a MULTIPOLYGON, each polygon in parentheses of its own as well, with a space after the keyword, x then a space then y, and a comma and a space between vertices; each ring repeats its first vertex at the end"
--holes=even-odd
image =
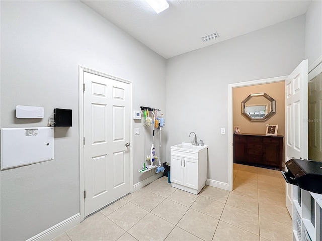
POLYGON ((85 216, 130 192, 130 87, 84 72, 85 216))

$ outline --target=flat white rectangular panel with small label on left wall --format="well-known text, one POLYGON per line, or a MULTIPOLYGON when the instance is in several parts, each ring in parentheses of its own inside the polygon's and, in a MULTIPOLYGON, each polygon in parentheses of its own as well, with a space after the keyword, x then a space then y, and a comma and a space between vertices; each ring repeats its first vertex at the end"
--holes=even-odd
POLYGON ((53 159, 53 127, 1 129, 1 170, 53 159))

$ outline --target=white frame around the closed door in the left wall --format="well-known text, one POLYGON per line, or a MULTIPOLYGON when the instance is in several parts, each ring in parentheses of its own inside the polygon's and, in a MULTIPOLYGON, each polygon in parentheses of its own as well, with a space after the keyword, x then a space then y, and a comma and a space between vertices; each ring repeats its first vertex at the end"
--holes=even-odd
MULTIPOLYGON (((79 211, 81 213, 81 221, 85 219, 85 200, 84 200, 84 189, 85 189, 85 175, 84 175, 84 91, 83 91, 83 83, 84 83, 84 72, 99 75, 102 77, 106 77, 109 79, 114 79, 123 83, 129 84, 130 88, 130 116, 133 113, 133 88, 132 81, 121 79, 112 75, 108 75, 84 66, 79 65, 79 200, 80 208, 79 211)), ((130 143, 133 144, 133 122, 130 121, 130 143)), ((132 147, 131 145, 130 147, 132 147)), ((133 192, 133 150, 130 148, 130 192, 133 192)))

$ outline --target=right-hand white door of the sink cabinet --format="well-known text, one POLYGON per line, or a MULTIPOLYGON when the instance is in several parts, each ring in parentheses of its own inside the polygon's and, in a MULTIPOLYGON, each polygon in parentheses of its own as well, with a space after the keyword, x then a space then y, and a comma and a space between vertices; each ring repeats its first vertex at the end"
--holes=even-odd
POLYGON ((187 187, 198 189, 198 160, 190 158, 184 159, 183 182, 183 185, 187 187))

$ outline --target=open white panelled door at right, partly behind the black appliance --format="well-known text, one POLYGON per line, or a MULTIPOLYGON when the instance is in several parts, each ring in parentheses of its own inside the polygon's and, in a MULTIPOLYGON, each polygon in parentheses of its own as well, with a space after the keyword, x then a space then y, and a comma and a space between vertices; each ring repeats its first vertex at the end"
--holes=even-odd
MULTIPOLYGON (((285 80, 285 161, 307 159, 307 60, 285 80)), ((286 184, 286 207, 292 216, 292 185, 286 184)))

